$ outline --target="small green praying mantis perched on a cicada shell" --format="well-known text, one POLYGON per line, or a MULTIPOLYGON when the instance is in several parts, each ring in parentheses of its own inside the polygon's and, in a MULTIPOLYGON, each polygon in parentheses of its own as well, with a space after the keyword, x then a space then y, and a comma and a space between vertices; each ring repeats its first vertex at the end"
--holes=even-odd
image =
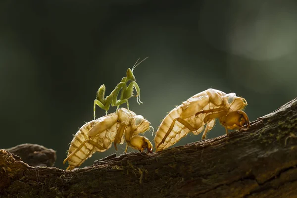
POLYGON ((140 101, 140 88, 138 84, 136 83, 135 76, 133 75, 133 70, 144 60, 146 60, 148 57, 140 61, 138 64, 138 60, 132 67, 132 69, 128 68, 126 75, 124 78, 122 78, 121 82, 115 86, 115 89, 110 93, 109 96, 104 98, 105 95, 105 85, 101 85, 97 91, 96 99, 94 100, 94 120, 96 119, 96 105, 98 105, 100 108, 105 110, 105 113, 107 115, 107 111, 111 106, 117 106, 117 109, 119 106, 123 103, 127 103, 127 108, 129 110, 129 102, 128 99, 133 97, 133 88, 135 88, 137 95, 135 97, 138 104, 143 103, 140 101), (127 82, 132 81, 128 87, 126 85, 127 82), (121 92, 120 99, 117 99, 119 93, 121 92))

